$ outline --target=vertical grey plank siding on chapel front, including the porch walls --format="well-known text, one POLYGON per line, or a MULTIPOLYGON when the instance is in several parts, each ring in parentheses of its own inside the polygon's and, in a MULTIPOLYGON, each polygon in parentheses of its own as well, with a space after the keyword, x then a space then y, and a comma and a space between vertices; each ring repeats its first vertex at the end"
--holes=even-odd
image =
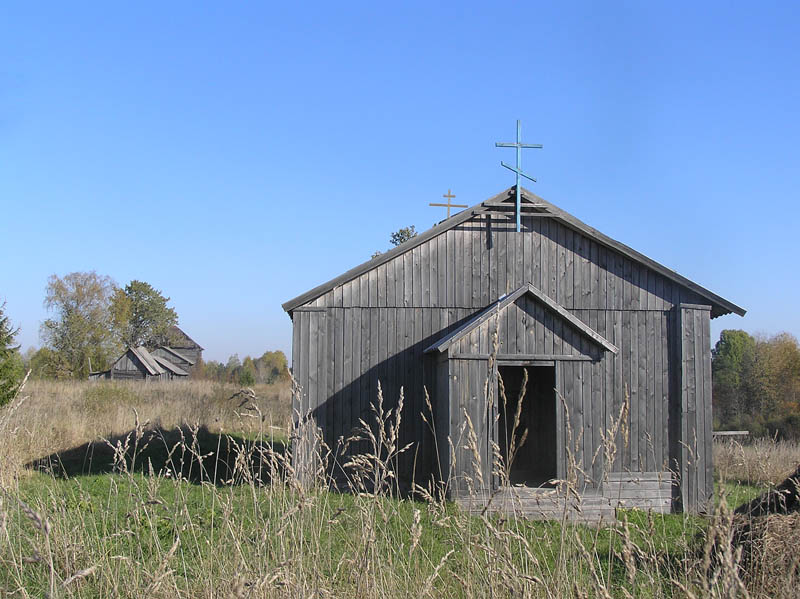
MULTIPOLYGON (((439 478, 442 470, 445 478, 447 472, 454 474, 454 493, 470 485, 486 488, 495 435, 486 390, 488 383, 496 397, 496 381, 482 356, 492 351, 496 327, 500 354, 587 358, 559 361, 556 369, 566 407, 559 413, 556 437, 562 448, 572 439, 570 450, 586 473, 587 488, 601 484, 605 456, 597 448, 628 401, 623 425, 628 442, 618 431, 617 452, 608 468, 654 472, 678 465, 684 469, 684 506, 702 509, 712 483, 709 312, 676 306, 703 300, 555 219, 523 216, 522 226, 517 233, 508 219, 475 216, 295 309, 297 414, 311 415, 341 464, 341 441, 351 436, 359 419, 371 420, 378 382, 384 409, 396 407, 402 388, 400 446, 413 444, 399 462, 404 484, 412 476, 418 483, 431 475, 439 478), (523 295, 454 345, 449 357, 426 357, 427 347, 527 283, 619 352, 605 351, 523 295), (426 389, 433 414, 426 407, 426 389), (476 455, 465 415, 477 439, 476 455), (573 430, 566 430, 568 425, 573 430), (678 437, 689 443, 696 437, 696 460, 681 453, 678 437), (480 473, 474 464, 480 464, 480 473)), ((564 452, 559 460, 563 474, 564 452)))

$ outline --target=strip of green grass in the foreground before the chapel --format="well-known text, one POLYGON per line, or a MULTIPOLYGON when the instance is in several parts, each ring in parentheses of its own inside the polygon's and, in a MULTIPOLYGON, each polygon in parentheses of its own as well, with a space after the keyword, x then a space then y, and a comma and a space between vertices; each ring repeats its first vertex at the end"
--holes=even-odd
MULTIPOLYGON (((565 537, 559 522, 492 517, 496 534, 488 535, 484 521, 465 516, 450 504, 437 507, 327 491, 302 497, 285 487, 213 486, 141 472, 69 478, 37 473, 20 481, 17 495, 51 522, 48 542, 59 548, 54 569, 60 579, 95 563, 118 568, 94 573, 83 596, 121 593, 122 581, 126 588, 144 589, 157 578, 165 560, 173 571, 175 590, 187 595, 202 594, 207 583, 200 581, 230 580, 232 572, 255 578, 259 572, 280 570, 286 562, 348 593, 358 590, 362 576, 400 580, 413 573, 425 580, 453 548, 456 552, 434 589, 462 596, 457 592, 458 579, 474 579, 478 571, 491 576, 493 551, 524 572, 533 567, 530 555, 523 551, 527 543, 538 571, 560 575, 563 560, 574 564, 583 560, 576 541, 589 548, 598 571, 612 587, 638 589, 638 596, 647 596, 641 594, 647 588, 644 582, 631 585, 626 581, 620 528, 569 525, 570 536, 565 537), (412 552, 415 511, 419 511, 421 535, 412 552), (372 537, 369 542, 365 535, 372 537), (177 538, 180 546, 167 559, 177 538), (71 541, 77 539, 80 549, 70 549, 71 541), (465 544, 473 550, 465 551, 465 544), (387 570, 370 571, 377 564, 387 570)), ((0 550, 0 558, 18 565, 17 569, 0 568, 0 588, 24 582, 29 593, 43 594, 50 584, 48 569, 30 558, 44 555, 44 535, 22 504, 7 498, 6 506, 11 508, 8 533, 16 559, 8 554, 8 547, 0 550)), ((660 556, 665 574, 679 568, 704 526, 703 519, 680 514, 648 516, 628 510, 625 516, 638 552, 660 556)), ((572 576, 589 584, 585 565, 570 568, 572 576)), ((661 581, 664 587, 667 583, 661 581)))

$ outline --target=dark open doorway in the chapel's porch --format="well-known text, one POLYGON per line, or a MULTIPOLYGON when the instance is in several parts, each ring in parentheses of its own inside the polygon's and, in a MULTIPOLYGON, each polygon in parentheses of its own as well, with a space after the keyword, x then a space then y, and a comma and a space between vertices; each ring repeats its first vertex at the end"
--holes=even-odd
POLYGON ((505 388, 505 401, 502 393, 498 395, 500 451, 506 464, 509 452, 514 454, 509 482, 542 486, 556 478, 555 366, 500 366, 498 371, 505 388), (528 382, 520 397, 526 370, 528 382))

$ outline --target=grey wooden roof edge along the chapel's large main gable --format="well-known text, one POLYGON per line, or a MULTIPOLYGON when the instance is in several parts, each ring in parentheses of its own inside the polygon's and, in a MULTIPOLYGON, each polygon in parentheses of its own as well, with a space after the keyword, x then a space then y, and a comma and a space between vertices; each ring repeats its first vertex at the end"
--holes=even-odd
MULTIPOLYGON (((744 316, 746 310, 740 308, 733 302, 726 300, 725 298, 717 295, 716 293, 709 291, 705 287, 698 285, 697 283, 690 281, 686 277, 678 274, 674 270, 667 268, 666 266, 659 264, 655 260, 648 258, 644 254, 637 252, 631 247, 628 247, 624 243, 620 243, 614 239, 611 239, 607 235, 604 235, 597 229, 590 227, 583 221, 575 218, 571 214, 561 210, 557 206, 543 200, 536 194, 528 191, 525 188, 520 189, 520 202, 522 204, 523 214, 547 214, 548 218, 553 218, 557 222, 562 223, 564 226, 569 227, 579 233, 582 233, 586 237, 594 240, 595 242, 606 246, 612 250, 615 250, 630 258, 631 260, 642 264, 653 271, 663 275, 667 279, 670 279, 679 285, 682 285, 701 297, 705 298, 711 304, 711 317, 714 318, 716 316, 722 316, 723 314, 730 314, 733 312, 734 314, 738 314, 739 316, 744 316)), ((291 312, 303 304, 306 304, 310 301, 315 300, 316 298, 320 297, 321 295, 327 293, 328 291, 346 283, 356 277, 364 274, 367 271, 372 270, 373 268, 377 268, 381 264, 385 264, 389 262, 396 256, 404 254, 415 247, 418 247, 425 243, 426 241, 436 237, 448 231, 458 225, 468 221, 473 216, 479 214, 506 214, 511 217, 514 216, 514 187, 510 187, 507 190, 497 194, 496 196, 481 202, 480 204, 475 204, 470 208, 466 208, 461 212, 454 214, 448 219, 445 219, 434 225, 427 231, 420 233, 416 237, 412 237, 405 243, 400 244, 399 246, 368 260, 354 268, 351 268, 347 272, 339 275, 338 277, 331 279, 330 281, 323 283, 322 285, 318 285, 313 289, 306 291, 303 294, 298 295, 294 299, 289 300, 283 304, 283 309, 286 312, 291 312)))

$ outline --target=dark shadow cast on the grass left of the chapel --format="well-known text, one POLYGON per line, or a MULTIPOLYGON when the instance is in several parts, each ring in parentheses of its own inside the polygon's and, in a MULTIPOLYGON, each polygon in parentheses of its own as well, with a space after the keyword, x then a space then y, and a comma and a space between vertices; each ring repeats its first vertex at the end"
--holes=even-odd
POLYGON ((59 478, 155 474, 194 484, 269 484, 283 478, 288 444, 216 434, 206 427, 133 429, 39 458, 26 467, 59 478))

